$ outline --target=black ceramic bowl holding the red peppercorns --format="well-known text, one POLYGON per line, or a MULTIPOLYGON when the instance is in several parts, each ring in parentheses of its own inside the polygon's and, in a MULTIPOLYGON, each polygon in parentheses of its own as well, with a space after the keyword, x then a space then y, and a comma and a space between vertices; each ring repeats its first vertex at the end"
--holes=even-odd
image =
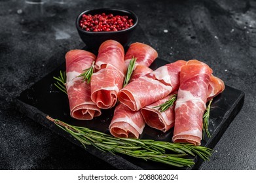
POLYGON ((98 51, 98 48, 100 47, 100 44, 102 42, 107 41, 109 39, 113 39, 115 41, 120 42, 122 46, 128 45, 137 27, 137 24, 138 24, 138 18, 134 12, 126 9, 119 9, 119 8, 99 8, 99 9, 93 9, 93 10, 85 10, 84 12, 81 12, 79 16, 77 16, 77 20, 75 22, 77 31, 82 41, 86 44, 86 46, 90 50, 96 50, 96 51, 98 51), (114 16, 115 15, 128 16, 128 18, 132 18, 134 25, 132 25, 132 27, 129 27, 128 29, 124 29, 120 31, 98 31, 98 32, 85 31, 79 26, 79 21, 82 18, 82 14, 94 15, 94 14, 101 14, 103 12, 105 12, 105 14, 113 14, 114 16))

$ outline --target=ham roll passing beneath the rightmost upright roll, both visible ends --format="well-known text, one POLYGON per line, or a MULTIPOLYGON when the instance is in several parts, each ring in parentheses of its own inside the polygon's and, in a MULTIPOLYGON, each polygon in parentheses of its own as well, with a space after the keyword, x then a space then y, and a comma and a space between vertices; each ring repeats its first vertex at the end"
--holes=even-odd
MULTIPOLYGON (((220 78, 217 78, 216 76, 211 75, 209 86, 208 86, 207 101, 210 101, 210 99, 217 96, 219 93, 223 92, 224 89, 225 89, 224 82, 220 78)), ((168 110, 164 112, 160 112, 158 108, 155 108, 156 106, 161 105, 166 101, 168 101, 173 94, 174 93, 171 93, 164 99, 160 99, 159 101, 156 101, 151 105, 141 108, 141 114, 143 115, 143 118, 145 119, 145 122, 147 125, 163 132, 168 131, 174 126, 175 103, 170 108, 168 108, 168 110)))

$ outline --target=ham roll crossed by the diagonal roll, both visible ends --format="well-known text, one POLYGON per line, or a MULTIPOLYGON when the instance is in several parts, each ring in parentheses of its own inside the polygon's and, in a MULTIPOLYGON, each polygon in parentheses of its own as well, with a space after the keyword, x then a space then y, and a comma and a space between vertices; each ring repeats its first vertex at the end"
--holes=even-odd
MULTIPOLYGON (((151 46, 136 42, 129 47, 125 60, 129 62, 132 58, 137 58, 137 60, 130 82, 141 75, 152 72, 148 66, 157 58, 157 53, 151 46)), ((140 111, 132 111, 126 105, 119 103, 115 108, 109 131, 115 137, 137 139, 144 127, 145 121, 140 111)))

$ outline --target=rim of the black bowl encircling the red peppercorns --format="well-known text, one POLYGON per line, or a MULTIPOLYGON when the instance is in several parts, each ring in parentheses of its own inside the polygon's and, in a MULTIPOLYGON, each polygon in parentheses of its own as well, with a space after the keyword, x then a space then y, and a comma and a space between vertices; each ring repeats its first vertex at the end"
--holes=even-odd
POLYGON ((97 35, 102 35, 102 34, 115 34, 115 33, 122 33, 122 32, 126 32, 126 31, 129 31, 131 29, 134 29, 137 24, 139 22, 139 19, 137 17, 137 14, 135 12, 133 12, 132 10, 128 10, 126 8, 95 8, 95 9, 88 9, 88 10, 84 10, 82 11, 76 18, 75 20, 75 25, 77 27, 77 29, 79 31, 82 31, 83 33, 87 33, 87 34, 97 34, 97 35), (119 12, 126 12, 128 14, 132 14, 132 16, 134 16, 133 20, 134 20, 134 25, 132 25, 132 27, 129 27, 128 29, 124 29, 124 30, 120 30, 120 31, 99 31, 99 32, 94 32, 94 31, 86 31, 84 29, 82 29, 80 26, 79 26, 79 20, 81 19, 81 16, 82 14, 86 14, 86 12, 90 12, 90 11, 101 11, 101 10, 113 10, 113 11, 119 11, 119 12))

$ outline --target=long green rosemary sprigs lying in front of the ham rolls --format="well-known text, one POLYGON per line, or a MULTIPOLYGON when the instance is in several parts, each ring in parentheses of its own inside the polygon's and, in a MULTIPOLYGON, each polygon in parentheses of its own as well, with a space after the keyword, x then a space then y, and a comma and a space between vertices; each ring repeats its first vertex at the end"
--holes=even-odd
POLYGON ((191 167, 194 165, 192 159, 185 158, 188 154, 191 156, 198 155, 204 160, 211 156, 211 149, 203 146, 146 139, 116 138, 86 127, 69 125, 50 116, 46 116, 46 118, 75 137, 84 148, 86 148, 86 145, 93 145, 103 152, 125 154, 146 161, 166 163, 175 167, 191 167), (166 154, 167 151, 171 151, 174 154, 166 154))

